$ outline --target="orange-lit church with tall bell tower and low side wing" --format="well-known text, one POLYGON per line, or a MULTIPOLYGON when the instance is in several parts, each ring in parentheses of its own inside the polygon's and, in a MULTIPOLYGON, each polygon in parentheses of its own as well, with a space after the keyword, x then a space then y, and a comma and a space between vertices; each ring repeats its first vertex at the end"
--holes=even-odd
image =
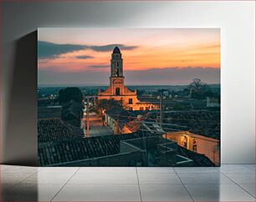
POLYGON ((137 98, 136 90, 125 87, 123 74, 123 58, 120 48, 115 47, 110 60, 110 86, 104 92, 98 92, 98 100, 115 99, 121 101, 126 110, 151 110, 159 109, 159 104, 141 102, 137 98))

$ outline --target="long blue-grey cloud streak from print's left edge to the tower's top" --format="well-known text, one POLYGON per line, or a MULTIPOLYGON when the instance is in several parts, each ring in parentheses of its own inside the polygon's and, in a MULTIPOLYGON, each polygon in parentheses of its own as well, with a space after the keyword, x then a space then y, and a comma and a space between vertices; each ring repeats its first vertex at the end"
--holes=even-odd
POLYGON ((91 49, 97 52, 109 52, 109 51, 112 51, 115 48, 115 46, 119 47, 121 50, 133 50, 137 48, 136 46, 125 46, 124 44, 87 46, 87 45, 58 44, 58 43, 38 41, 38 59, 59 58, 60 54, 70 53, 70 52, 79 51, 83 49, 91 49))

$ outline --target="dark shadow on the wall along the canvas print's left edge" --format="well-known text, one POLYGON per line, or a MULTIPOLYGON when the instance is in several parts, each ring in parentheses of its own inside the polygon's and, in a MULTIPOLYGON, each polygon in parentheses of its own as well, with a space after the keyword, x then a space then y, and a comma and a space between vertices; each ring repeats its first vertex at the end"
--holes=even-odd
POLYGON ((36 166, 37 144, 37 31, 13 43, 15 55, 8 82, 6 135, 3 142, 3 163, 36 166), (13 149, 15 148, 15 149, 13 149), (20 153, 20 149, 26 153, 20 153))

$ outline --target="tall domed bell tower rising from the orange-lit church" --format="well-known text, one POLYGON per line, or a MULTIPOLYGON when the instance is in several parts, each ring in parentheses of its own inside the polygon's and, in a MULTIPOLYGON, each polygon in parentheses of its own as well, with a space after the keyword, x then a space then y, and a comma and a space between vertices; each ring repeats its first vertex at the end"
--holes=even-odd
POLYGON ((110 87, 114 96, 124 95, 123 59, 120 49, 115 47, 111 54, 110 87))

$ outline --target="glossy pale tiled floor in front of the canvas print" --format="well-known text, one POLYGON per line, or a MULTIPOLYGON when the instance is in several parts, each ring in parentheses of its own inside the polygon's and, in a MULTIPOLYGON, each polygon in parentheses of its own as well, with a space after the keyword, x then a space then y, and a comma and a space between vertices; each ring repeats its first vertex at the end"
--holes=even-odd
POLYGON ((1 165, 1 201, 255 201, 255 165, 33 168, 1 165))

